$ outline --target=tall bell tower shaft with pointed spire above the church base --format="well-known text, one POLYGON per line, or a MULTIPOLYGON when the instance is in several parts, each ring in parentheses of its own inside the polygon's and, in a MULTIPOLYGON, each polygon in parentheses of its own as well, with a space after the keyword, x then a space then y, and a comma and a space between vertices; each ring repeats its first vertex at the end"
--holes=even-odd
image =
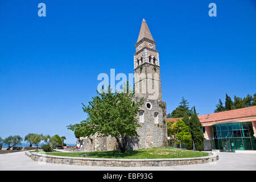
POLYGON ((138 97, 162 101, 159 51, 156 51, 155 44, 143 19, 134 53, 135 93, 138 97))

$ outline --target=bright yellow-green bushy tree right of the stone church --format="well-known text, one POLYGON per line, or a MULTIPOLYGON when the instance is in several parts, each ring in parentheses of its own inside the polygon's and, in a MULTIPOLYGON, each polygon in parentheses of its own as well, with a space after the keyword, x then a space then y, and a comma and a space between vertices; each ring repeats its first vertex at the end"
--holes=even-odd
MULTIPOLYGON (((183 121, 177 119, 176 123, 173 123, 170 127, 169 137, 171 139, 171 145, 184 143, 189 146, 192 142, 191 133, 189 127, 185 125, 183 121)), ((192 147, 192 145, 190 146, 192 147)))

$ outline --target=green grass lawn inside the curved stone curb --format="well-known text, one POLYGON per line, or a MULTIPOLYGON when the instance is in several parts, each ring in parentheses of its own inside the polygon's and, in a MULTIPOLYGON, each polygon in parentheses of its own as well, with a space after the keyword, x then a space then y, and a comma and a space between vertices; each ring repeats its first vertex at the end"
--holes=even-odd
POLYGON ((109 159, 167 159, 167 158, 196 158, 208 156, 207 152, 182 150, 174 147, 153 147, 126 151, 99 152, 46 152, 47 155, 70 156, 79 158, 109 158, 109 159), (92 154, 83 156, 83 154, 92 154))

